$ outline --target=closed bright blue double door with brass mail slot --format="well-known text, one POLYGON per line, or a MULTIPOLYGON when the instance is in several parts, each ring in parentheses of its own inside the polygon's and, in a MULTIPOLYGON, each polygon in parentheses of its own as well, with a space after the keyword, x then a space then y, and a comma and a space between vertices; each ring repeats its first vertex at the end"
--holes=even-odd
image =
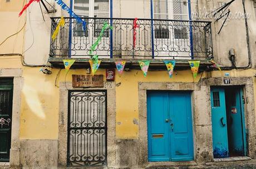
POLYGON ((193 160, 190 93, 147 94, 149 161, 193 160))

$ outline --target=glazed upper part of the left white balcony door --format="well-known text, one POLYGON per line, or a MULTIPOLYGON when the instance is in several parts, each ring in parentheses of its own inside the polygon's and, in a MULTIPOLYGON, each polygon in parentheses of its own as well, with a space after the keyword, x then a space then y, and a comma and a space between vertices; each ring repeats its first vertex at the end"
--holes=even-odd
MULTIPOLYGON (((74 0, 73 11, 83 18, 109 18, 111 0, 74 0)), ((98 37, 104 19, 85 19, 87 22, 86 32, 83 31, 81 24, 75 25, 74 35, 79 37, 88 37, 88 31, 93 32, 94 37, 98 37)), ((105 32, 105 37, 109 37, 109 32, 105 32)))

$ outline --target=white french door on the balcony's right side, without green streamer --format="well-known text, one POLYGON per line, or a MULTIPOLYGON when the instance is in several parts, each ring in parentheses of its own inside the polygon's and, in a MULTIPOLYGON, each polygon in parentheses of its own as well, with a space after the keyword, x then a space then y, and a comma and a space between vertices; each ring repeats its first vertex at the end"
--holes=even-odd
MULTIPOLYGON (((154 53, 156 57, 191 59, 191 37, 188 1, 154 0, 154 53), (168 21, 174 19, 177 21, 168 21)), ((163 58, 163 59, 165 59, 163 58)))

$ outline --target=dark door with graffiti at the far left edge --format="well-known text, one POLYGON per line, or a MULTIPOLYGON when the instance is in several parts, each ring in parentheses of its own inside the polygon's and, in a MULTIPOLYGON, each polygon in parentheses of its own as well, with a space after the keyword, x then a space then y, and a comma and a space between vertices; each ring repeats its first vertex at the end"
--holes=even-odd
POLYGON ((11 148, 11 126, 12 126, 12 96, 13 85, 0 83, 0 162, 9 161, 9 151, 11 148))

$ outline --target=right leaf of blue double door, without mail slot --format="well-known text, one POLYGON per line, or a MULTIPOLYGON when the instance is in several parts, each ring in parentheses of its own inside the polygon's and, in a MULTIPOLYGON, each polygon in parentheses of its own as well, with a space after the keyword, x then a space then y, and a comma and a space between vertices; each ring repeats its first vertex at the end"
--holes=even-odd
POLYGON ((193 160, 193 134, 190 93, 170 93, 171 161, 193 160))

